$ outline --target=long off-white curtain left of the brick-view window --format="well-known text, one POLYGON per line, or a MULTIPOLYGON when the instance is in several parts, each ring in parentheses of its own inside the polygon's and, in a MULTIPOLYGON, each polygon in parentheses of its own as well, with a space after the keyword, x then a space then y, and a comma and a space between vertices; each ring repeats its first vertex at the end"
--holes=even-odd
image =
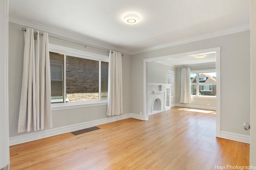
POLYGON ((24 59, 18 133, 52 127, 48 33, 24 31, 24 59))

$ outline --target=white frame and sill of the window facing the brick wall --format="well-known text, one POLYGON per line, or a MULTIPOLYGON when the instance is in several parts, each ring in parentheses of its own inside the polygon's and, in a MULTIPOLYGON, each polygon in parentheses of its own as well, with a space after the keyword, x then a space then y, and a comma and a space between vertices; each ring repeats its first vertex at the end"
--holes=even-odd
POLYGON ((90 59, 94 61, 99 61, 99 100, 94 101, 83 101, 83 102, 64 102, 64 103, 52 103, 52 111, 55 110, 64 110, 64 109, 73 109, 73 108, 81 108, 81 107, 92 107, 92 106, 102 106, 107 105, 107 100, 101 99, 101 62, 108 63, 108 56, 101 55, 96 53, 91 53, 88 51, 82 51, 78 49, 73 49, 69 47, 64 47, 56 44, 49 43, 49 52, 53 53, 61 53, 64 55, 64 101, 66 101, 66 56, 71 57, 79 57, 82 59, 90 59), (68 107, 68 108, 67 108, 68 107))

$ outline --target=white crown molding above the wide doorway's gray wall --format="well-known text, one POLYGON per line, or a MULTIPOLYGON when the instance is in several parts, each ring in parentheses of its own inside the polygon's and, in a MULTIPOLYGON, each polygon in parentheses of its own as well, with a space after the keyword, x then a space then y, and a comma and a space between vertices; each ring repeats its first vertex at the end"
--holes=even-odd
POLYGON ((157 49, 163 49, 163 48, 166 48, 166 47, 172 47, 172 46, 175 46, 175 45, 191 43, 191 42, 200 41, 200 40, 204 40, 204 39, 220 37, 220 36, 223 36, 223 35, 228 35, 228 34, 232 34, 232 33, 248 31, 248 30, 250 30, 250 24, 241 25, 241 26, 238 26, 238 27, 230 28, 230 29, 224 29, 224 30, 221 30, 221 31, 216 31, 216 32, 207 33, 207 34, 204 34, 204 35, 199 35, 199 36, 195 36, 195 37, 191 37, 191 38, 181 39, 181 40, 178 40, 178 41, 172 41, 172 42, 169 42, 169 43, 164 43, 164 44, 161 44, 161 45, 156 45, 156 46, 140 49, 138 51, 134 51, 133 53, 131 53, 131 55, 138 54, 138 53, 143 53, 143 52, 147 52, 147 51, 152 51, 152 50, 157 50, 157 49))

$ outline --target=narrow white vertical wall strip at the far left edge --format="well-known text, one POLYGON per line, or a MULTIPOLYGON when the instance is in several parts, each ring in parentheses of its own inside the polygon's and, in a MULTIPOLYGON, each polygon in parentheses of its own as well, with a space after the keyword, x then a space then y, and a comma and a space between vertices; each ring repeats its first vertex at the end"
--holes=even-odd
POLYGON ((10 164, 8 137, 8 0, 0 0, 0 169, 10 164))

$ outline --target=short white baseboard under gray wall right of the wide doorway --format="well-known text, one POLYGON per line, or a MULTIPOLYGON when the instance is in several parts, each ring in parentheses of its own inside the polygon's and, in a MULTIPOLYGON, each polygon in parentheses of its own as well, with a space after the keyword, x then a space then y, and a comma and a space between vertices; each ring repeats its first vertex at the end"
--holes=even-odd
POLYGON ((238 141, 238 142, 250 144, 250 136, 249 135, 242 135, 242 134, 238 134, 238 133, 220 131, 219 137, 224 138, 224 139, 229 139, 232 141, 238 141))

